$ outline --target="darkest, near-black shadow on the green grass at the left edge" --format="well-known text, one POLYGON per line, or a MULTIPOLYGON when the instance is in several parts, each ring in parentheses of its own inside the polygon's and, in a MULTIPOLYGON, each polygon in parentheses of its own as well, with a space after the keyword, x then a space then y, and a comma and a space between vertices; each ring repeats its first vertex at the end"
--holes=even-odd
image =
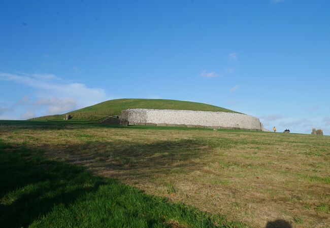
POLYGON ((0 221, 3 227, 30 224, 55 204, 69 205, 95 192, 101 178, 81 167, 45 160, 40 153, 0 142, 0 221))

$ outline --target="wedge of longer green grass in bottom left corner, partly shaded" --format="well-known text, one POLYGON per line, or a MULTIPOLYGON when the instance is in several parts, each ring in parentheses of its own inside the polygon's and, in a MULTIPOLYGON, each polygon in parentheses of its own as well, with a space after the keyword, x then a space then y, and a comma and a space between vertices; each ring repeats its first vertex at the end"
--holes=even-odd
POLYGON ((244 227, 0 141, 3 227, 244 227))

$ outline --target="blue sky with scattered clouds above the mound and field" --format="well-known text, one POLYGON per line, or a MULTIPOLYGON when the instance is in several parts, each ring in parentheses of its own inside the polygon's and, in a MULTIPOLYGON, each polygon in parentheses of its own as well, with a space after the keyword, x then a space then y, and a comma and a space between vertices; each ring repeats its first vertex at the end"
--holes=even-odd
POLYGON ((0 0, 0 119, 205 102, 330 134, 330 2, 0 0))

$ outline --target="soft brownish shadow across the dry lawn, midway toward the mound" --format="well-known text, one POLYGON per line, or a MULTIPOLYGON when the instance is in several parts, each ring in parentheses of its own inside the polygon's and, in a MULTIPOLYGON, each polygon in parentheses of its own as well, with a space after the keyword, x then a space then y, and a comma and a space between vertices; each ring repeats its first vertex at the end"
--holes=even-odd
POLYGON ((97 173, 120 179, 149 178, 157 174, 182 173, 201 166, 198 159, 217 146, 229 148, 229 139, 218 139, 214 145, 205 139, 179 139, 152 143, 89 141, 62 145, 47 150, 47 156, 86 166, 97 173), (221 142, 219 142, 221 141, 221 142), (190 169, 192 168, 192 169, 190 169), (108 174, 107 174, 108 173, 108 174))

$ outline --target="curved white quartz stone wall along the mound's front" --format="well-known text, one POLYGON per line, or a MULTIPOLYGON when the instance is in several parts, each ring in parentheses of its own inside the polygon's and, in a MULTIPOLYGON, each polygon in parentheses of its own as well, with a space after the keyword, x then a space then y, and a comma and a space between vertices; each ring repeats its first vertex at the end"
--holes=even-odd
POLYGON ((262 130, 258 118, 234 112, 137 108, 123 110, 120 118, 127 120, 129 125, 262 130))

